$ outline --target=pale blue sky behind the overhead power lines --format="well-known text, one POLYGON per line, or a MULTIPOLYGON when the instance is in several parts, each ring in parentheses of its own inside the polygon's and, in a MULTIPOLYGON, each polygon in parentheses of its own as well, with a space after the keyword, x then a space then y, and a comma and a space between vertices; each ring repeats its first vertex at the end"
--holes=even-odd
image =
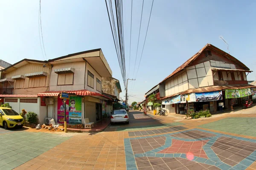
MULTIPOLYGON (((133 0, 130 32, 131 0, 124 0, 126 77, 136 78, 135 81, 128 82, 128 95, 131 96, 128 103, 141 102, 147 91, 207 43, 230 52, 254 71, 247 79, 256 79, 256 56, 254 52, 251 53, 256 50, 256 1, 154 0, 145 48, 138 68, 152 1, 144 1, 137 53, 142 3, 143 0, 133 0), (227 44, 219 39, 221 35, 229 44, 229 51, 227 44)), ((41 0, 46 56, 41 51, 38 11, 39 0, 0 1, 0 59, 14 64, 24 58, 46 60, 102 48, 113 72, 112 76, 120 81, 120 96, 125 99, 105 1, 41 0)))

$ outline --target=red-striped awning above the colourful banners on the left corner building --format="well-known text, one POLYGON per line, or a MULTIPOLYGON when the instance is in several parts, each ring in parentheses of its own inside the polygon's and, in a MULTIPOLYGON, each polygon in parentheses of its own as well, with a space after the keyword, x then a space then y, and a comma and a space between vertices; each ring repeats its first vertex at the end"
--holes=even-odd
POLYGON ((43 93, 38 93, 38 96, 58 96, 59 93, 65 92, 65 93, 70 93, 70 94, 76 94, 79 96, 102 96, 107 99, 111 99, 108 96, 105 96, 103 94, 99 94, 96 92, 88 91, 88 90, 74 90, 74 91, 47 91, 43 93))

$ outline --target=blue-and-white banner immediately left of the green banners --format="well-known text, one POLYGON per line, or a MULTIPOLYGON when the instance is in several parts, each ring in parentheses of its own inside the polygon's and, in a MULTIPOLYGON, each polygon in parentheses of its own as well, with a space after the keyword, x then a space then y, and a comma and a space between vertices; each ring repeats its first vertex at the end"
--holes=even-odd
POLYGON ((195 93, 195 98, 196 98, 196 102, 222 100, 222 93, 221 93, 221 91, 195 93))

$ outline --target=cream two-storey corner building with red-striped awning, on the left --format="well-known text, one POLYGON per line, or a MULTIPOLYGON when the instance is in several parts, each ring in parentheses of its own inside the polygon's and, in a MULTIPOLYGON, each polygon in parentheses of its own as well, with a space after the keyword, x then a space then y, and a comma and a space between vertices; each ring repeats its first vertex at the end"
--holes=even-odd
POLYGON ((22 109, 38 114, 39 122, 53 118, 64 122, 64 101, 61 92, 70 94, 66 101, 68 124, 82 124, 102 119, 105 100, 102 95, 102 77, 111 77, 112 71, 101 49, 83 51, 67 56, 38 61, 23 59, 2 72, 4 82, 13 88, 10 95, 0 94, 4 102, 20 112, 22 109))

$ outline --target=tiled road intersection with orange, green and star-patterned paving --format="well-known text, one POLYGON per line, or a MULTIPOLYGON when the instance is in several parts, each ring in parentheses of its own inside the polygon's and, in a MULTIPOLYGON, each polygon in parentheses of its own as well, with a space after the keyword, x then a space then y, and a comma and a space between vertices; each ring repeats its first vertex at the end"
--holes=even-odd
POLYGON ((131 111, 129 125, 69 136, 0 128, 0 170, 256 170, 248 111, 193 120, 131 111))

